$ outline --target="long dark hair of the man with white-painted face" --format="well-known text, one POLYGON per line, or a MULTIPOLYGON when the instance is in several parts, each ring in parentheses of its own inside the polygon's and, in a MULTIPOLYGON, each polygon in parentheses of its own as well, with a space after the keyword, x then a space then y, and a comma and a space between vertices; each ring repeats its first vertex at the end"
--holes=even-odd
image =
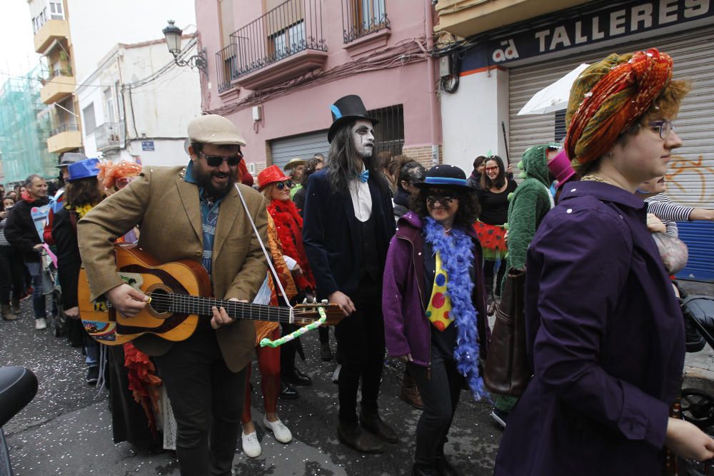
MULTIPOLYGON (((348 193, 349 181, 361 173, 358 158, 360 158, 352 141, 352 126, 354 122, 345 124, 335 133, 330 144, 327 160, 327 180, 333 192, 348 193)), ((371 181, 376 181, 380 190, 389 193, 386 177, 376 168, 376 157, 372 155, 362 158, 364 168, 369 171, 371 181)))

